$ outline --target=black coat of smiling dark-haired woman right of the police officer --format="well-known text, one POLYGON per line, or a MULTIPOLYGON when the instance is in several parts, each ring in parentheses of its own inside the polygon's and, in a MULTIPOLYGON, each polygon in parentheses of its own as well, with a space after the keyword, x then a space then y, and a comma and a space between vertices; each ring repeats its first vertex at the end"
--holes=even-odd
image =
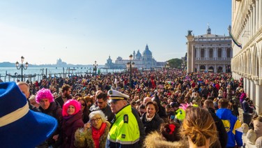
POLYGON ((142 123, 144 124, 144 128, 146 131, 146 135, 148 133, 151 133, 152 131, 159 131, 160 130, 160 124, 164 123, 164 120, 159 117, 157 113, 155 113, 155 116, 151 121, 146 121, 146 112, 141 117, 142 123))

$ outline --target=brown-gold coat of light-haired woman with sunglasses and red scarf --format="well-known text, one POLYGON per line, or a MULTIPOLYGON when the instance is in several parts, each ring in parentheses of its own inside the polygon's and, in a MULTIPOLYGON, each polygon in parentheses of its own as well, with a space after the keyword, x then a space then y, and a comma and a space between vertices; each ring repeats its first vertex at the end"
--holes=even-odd
MULTIPOLYGON (((106 121, 105 123, 107 124, 107 127, 105 128, 104 133, 101 135, 99 139, 99 147, 101 148, 105 147, 105 144, 107 142, 107 135, 111 126, 108 121, 106 121)), ((81 133, 79 129, 75 132, 75 147, 95 147, 95 142, 92 138, 92 128, 88 128, 83 133, 81 133)))

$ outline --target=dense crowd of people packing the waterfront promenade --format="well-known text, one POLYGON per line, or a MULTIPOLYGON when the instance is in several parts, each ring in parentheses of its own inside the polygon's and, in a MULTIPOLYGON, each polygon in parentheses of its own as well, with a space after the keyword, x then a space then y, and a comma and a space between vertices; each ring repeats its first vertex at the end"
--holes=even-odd
POLYGON ((17 86, 31 110, 58 123, 36 147, 242 147, 238 110, 254 115, 249 124, 256 139, 262 133, 262 114, 231 73, 174 69, 55 77, 17 86))

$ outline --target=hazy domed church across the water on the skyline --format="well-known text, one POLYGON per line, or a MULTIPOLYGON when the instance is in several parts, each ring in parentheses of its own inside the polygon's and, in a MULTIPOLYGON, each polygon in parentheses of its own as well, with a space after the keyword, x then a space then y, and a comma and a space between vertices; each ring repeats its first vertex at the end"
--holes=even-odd
MULTIPOLYGON (((116 61, 113 63, 111 57, 107 59, 107 63, 105 64, 106 68, 109 69, 123 69, 126 68, 130 59, 123 59, 122 57, 117 57, 116 61)), ((138 69, 151 69, 157 66, 164 66, 164 62, 157 62, 153 56, 152 52, 149 50, 148 45, 146 45, 146 49, 141 54, 139 50, 137 52, 133 52, 132 60, 134 62, 134 67, 138 69)))

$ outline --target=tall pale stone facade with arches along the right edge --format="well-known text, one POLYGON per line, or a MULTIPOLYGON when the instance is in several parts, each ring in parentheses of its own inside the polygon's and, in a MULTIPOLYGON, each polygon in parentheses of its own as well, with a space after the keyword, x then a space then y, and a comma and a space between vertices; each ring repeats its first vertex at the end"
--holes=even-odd
POLYGON ((244 90, 262 112, 262 1, 232 0, 232 75, 243 78, 244 90))

